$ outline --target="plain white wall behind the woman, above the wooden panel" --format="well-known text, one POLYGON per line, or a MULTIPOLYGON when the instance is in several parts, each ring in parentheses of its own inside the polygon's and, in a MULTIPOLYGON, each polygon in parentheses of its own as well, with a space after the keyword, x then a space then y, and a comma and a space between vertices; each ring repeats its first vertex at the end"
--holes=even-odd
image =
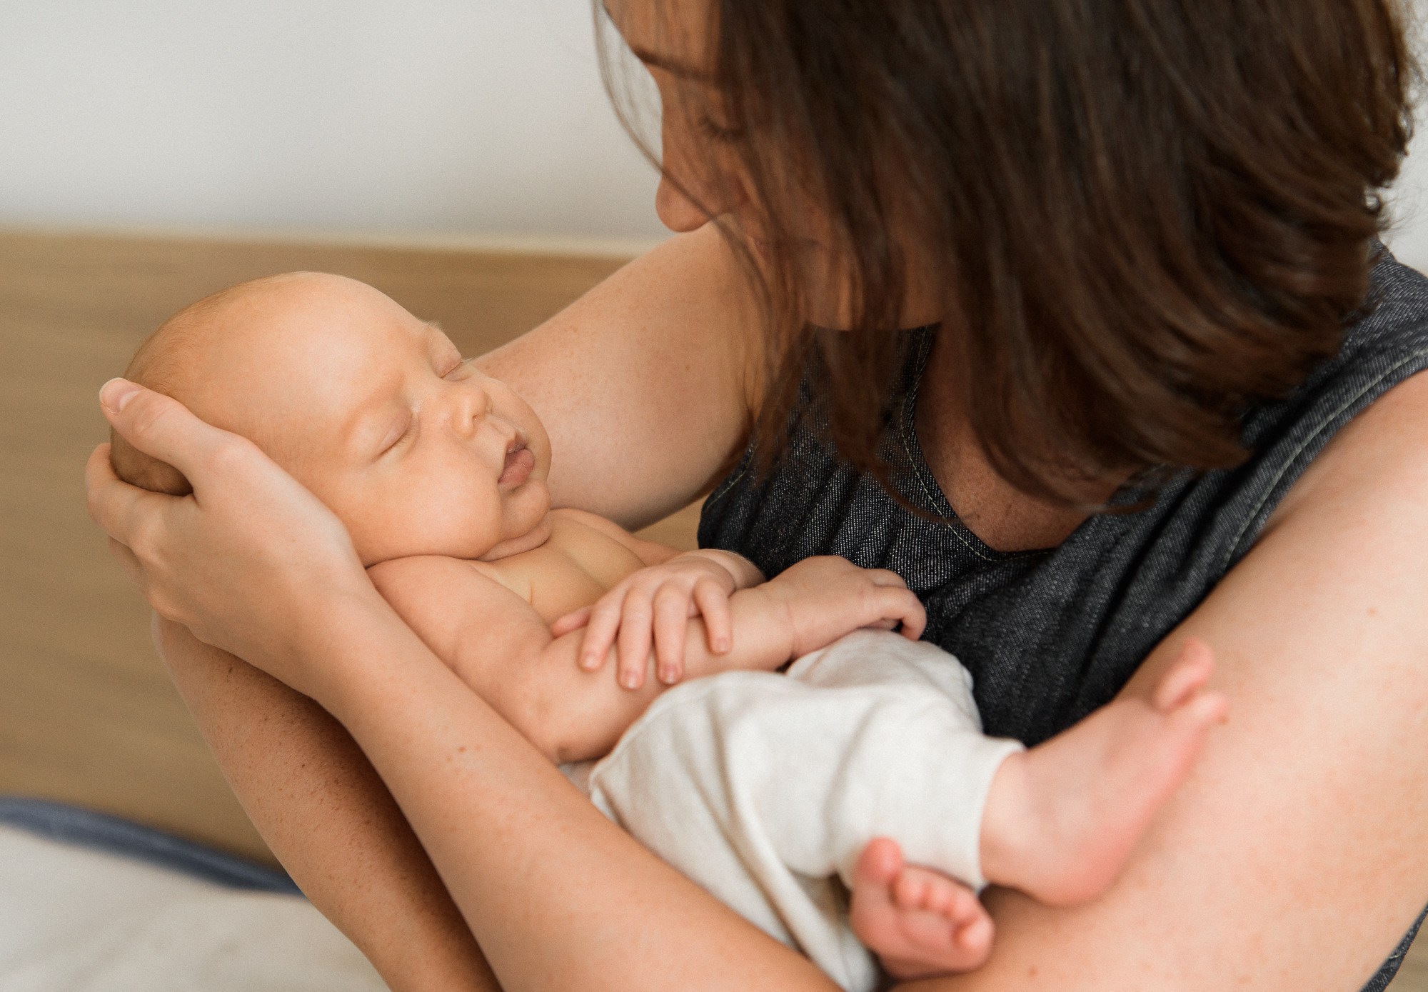
POLYGON ((591 36, 591 0, 0 0, 0 223, 648 243, 591 36))

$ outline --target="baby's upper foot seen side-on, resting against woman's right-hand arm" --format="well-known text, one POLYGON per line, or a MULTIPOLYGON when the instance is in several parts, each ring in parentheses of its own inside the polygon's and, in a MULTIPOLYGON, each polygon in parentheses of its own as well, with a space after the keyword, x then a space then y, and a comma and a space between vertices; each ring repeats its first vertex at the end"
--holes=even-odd
POLYGON ((1212 670, 1190 639, 1148 700, 1118 699, 1008 758, 982 815, 982 873, 1054 906, 1104 892, 1224 720, 1225 698, 1204 692, 1212 670))

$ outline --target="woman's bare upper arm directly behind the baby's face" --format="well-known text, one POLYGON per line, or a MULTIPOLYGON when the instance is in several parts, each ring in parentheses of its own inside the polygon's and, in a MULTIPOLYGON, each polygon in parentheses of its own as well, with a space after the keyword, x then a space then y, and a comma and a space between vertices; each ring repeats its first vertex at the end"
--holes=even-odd
POLYGON ((763 389, 760 332, 744 274, 707 224, 480 366, 545 425, 554 505, 637 530, 688 506, 738 459, 763 389))

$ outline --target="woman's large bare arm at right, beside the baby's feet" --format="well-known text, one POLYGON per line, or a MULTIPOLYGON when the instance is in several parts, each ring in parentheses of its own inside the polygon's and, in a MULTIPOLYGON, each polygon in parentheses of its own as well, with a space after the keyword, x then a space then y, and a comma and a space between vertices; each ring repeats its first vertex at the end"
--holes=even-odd
POLYGON ((1428 902, 1428 375, 1345 427, 1185 635, 1231 700, 1102 899, 994 892, 947 992, 1357 992, 1428 902))

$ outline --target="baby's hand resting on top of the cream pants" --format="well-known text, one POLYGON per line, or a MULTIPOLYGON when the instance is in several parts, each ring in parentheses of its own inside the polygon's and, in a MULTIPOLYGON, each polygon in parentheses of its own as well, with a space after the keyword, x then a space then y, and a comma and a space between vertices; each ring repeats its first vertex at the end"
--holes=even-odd
POLYGON ((927 628, 927 610, 900 575, 860 569, 837 556, 805 557, 758 592, 787 607, 791 658, 827 648, 861 628, 892 630, 901 623, 908 640, 921 638, 927 628))

